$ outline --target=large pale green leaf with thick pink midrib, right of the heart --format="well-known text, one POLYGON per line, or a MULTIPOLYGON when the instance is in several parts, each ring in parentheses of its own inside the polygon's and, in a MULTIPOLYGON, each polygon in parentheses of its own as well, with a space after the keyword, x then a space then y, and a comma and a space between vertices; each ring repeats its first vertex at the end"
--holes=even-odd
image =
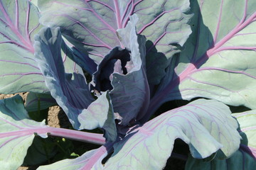
POLYGON ((191 1, 191 8, 193 34, 172 60, 152 107, 205 97, 255 108, 256 1, 191 1))

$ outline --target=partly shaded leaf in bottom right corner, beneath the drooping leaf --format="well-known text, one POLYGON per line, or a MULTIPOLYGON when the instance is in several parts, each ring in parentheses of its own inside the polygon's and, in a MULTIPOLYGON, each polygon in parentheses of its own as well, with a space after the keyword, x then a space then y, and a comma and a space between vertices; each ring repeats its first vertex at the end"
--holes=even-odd
POLYGON ((233 114, 240 125, 239 133, 242 136, 240 149, 229 159, 213 159, 210 162, 188 157, 186 170, 218 169, 218 170, 254 170, 256 167, 256 111, 233 114))

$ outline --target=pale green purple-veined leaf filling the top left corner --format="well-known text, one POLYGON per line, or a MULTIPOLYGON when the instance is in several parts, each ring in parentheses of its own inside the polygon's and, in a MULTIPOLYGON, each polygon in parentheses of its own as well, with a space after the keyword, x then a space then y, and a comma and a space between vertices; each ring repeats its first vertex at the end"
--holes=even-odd
POLYGON ((33 36, 41 28, 36 6, 26 0, 0 1, 0 93, 45 92, 33 56, 33 36))

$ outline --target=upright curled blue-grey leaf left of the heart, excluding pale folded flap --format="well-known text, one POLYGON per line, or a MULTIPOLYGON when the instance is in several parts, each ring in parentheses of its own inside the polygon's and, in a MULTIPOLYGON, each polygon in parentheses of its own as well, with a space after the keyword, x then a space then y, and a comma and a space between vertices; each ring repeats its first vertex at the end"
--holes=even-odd
POLYGON ((58 105, 68 115, 74 128, 79 128, 78 115, 83 108, 92 102, 84 77, 81 74, 65 74, 60 53, 64 43, 59 29, 42 28, 40 35, 35 38, 36 57, 38 66, 45 77, 46 86, 58 105))

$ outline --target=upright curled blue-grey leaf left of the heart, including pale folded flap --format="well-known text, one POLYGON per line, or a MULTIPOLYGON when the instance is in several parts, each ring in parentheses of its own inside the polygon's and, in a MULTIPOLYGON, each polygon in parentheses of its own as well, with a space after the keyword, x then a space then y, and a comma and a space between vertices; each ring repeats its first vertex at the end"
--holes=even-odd
POLYGON ((107 92, 94 101, 82 74, 65 73, 61 57, 61 45, 64 41, 59 28, 42 28, 35 40, 35 55, 38 67, 45 77, 46 86, 50 89, 51 96, 68 115, 73 127, 75 129, 103 128, 106 131, 107 140, 115 140, 117 136, 114 113, 107 92), (104 109, 101 110, 101 108, 104 109), (82 121, 78 120, 80 116, 82 121), (92 118, 95 119, 92 121, 92 118))

